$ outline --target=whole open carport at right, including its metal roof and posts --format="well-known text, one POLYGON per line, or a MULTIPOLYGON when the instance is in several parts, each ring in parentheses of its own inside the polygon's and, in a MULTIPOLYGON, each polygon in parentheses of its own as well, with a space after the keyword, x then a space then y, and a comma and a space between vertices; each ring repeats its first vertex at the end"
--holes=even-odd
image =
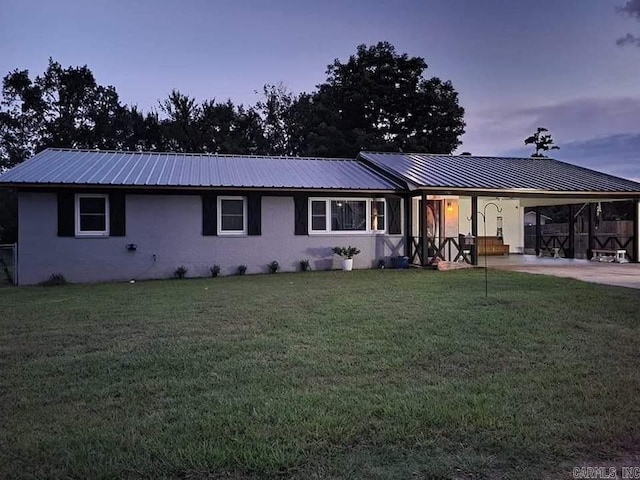
MULTIPOLYGON (((625 251, 640 259, 640 183, 551 158, 362 152, 359 160, 406 185, 406 255, 415 265, 440 260, 478 265, 479 255, 525 254, 525 209, 536 215, 533 252, 576 257, 576 246, 625 251), (599 230, 598 209, 629 202, 624 236, 599 230), (567 206, 565 233, 545 235, 541 209, 567 206), (576 222, 584 229, 576 233, 576 222), (495 249, 488 248, 492 244, 495 249)), ((555 259, 557 260, 557 259, 555 259)))

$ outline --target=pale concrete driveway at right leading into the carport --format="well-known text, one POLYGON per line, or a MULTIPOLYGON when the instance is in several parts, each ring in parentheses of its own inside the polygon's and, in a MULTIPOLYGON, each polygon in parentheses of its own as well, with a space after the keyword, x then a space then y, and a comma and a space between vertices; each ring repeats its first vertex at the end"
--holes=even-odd
MULTIPOLYGON (((484 258, 478 261, 484 266, 484 258)), ((487 257, 489 268, 575 278, 585 282, 640 289, 640 264, 601 263, 569 258, 538 258, 535 255, 487 257)))

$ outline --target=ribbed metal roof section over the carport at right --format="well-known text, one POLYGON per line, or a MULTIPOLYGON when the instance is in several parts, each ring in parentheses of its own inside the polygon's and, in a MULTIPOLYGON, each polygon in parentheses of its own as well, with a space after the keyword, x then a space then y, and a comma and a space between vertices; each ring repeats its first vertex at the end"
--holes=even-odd
POLYGON ((379 152, 361 152, 359 158, 417 188, 640 195, 640 183, 551 158, 379 152))

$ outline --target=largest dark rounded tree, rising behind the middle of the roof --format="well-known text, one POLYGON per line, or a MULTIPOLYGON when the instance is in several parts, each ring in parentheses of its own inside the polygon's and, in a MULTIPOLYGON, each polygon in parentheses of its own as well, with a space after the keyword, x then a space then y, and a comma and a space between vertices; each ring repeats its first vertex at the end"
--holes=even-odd
MULTIPOLYGON (((464 109, 449 81, 425 78, 423 58, 397 54, 388 42, 360 45, 328 66, 311 99, 313 150, 353 157, 360 150, 451 153, 464 133, 464 109), (319 123, 316 123, 319 122, 319 123)), ((309 153, 309 152, 307 152, 309 153)))

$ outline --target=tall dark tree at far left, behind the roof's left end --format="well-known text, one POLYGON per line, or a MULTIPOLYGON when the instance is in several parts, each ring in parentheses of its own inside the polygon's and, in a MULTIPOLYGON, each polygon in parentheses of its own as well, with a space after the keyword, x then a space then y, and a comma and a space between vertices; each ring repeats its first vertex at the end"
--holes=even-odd
POLYGON ((11 166, 46 147, 118 148, 123 113, 111 86, 96 83, 84 67, 63 68, 49 59, 34 80, 14 70, 3 80, 0 158, 11 166))

